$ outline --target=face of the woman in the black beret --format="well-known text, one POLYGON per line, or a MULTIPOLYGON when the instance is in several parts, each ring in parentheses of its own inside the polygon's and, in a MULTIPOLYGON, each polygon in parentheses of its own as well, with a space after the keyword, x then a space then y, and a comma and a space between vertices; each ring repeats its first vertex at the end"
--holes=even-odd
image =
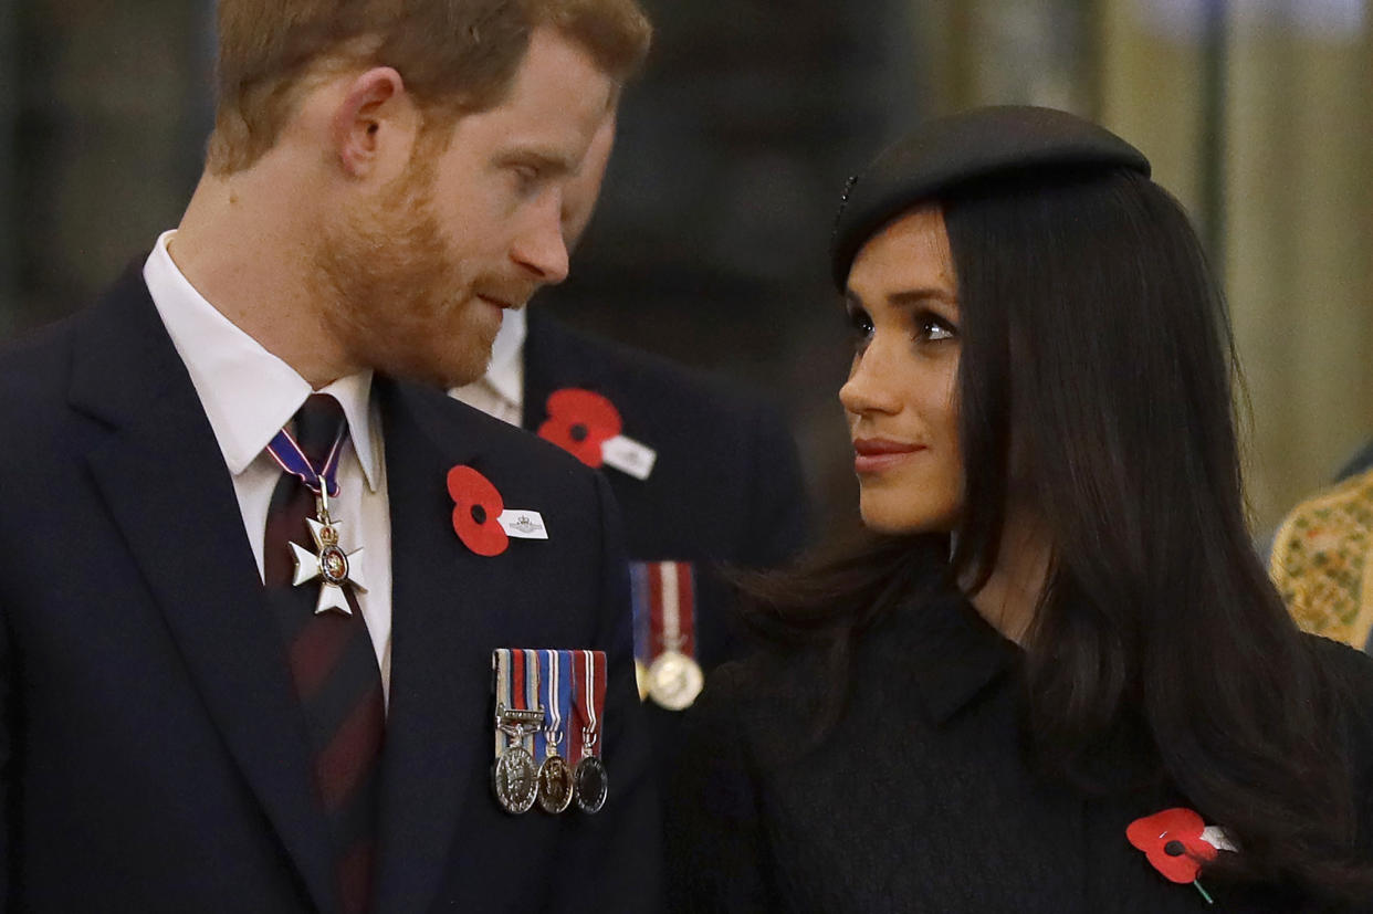
POLYGON ((936 207, 875 235, 849 270, 857 351, 839 399, 849 413, 864 523, 946 532, 962 513, 958 296, 936 207))

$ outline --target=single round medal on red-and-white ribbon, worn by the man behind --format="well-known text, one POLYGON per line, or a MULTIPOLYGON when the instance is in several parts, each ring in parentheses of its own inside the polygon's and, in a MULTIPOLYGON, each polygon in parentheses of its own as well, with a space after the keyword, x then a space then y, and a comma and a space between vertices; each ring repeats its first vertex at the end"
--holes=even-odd
POLYGON ((662 708, 684 711, 706 677, 696 663, 696 575, 689 561, 633 563, 636 653, 647 666, 643 692, 662 708))

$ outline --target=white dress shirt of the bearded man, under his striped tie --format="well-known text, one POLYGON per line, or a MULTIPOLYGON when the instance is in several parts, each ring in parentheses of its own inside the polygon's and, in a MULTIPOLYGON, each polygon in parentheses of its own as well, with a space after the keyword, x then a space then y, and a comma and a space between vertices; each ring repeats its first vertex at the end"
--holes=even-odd
MULTIPOLYGON (((365 549, 361 559, 367 591, 356 591, 367 622, 382 686, 391 688, 391 512, 386 497, 386 449, 382 421, 372 403, 372 372, 341 377, 320 391, 295 369, 232 324, 185 279, 168 253, 176 232, 166 232, 143 266, 143 280, 177 354, 191 373, 224 462, 233 476, 233 493, 258 576, 272 490, 281 475, 265 449, 313 392, 331 394, 347 417, 351 447, 339 461, 339 497, 330 513, 339 522, 345 552, 365 549)), ((302 531, 303 538, 303 531, 302 531)), ((312 542, 302 545, 312 548, 312 542)), ((317 583, 301 585, 317 587, 317 583)), ((268 620, 264 616, 264 624, 268 620)))

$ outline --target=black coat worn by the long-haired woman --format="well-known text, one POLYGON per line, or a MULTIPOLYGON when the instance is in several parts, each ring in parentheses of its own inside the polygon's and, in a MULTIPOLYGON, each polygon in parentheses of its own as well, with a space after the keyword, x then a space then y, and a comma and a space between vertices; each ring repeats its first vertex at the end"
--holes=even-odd
MULTIPOLYGON (((1324 640, 1313 649, 1354 696, 1366 801, 1373 663, 1324 640)), ((1189 806, 1174 790, 1086 799, 1037 777, 1020 738, 1019 661, 1019 649, 961 596, 913 601, 859 637, 846 710, 818 744, 814 726, 832 682, 822 651, 722 666, 688 715, 670 807, 678 910, 1296 910, 1291 898, 1203 876, 1215 898, 1208 907, 1193 885, 1159 876, 1126 828, 1189 806)), ((1118 763, 1130 759, 1108 759, 1105 770, 1118 763)), ((1363 841, 1373 844, 1373 806, 1366 810, 1363 841)))

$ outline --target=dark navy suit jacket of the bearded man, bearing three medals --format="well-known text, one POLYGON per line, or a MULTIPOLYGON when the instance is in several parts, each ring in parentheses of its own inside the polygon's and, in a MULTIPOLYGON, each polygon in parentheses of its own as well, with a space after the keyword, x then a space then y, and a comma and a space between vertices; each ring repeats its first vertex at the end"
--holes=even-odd
MULTIPOLYGON (((655 910, 656 803, 605 483, 438 391, 375 384, 394 626, 373 910, 655 910), (468 552, 445 489, 454 464, 542 512, 552 539, 468 552), (497 646, 608 652, 600 815, 498 810, 497 646)), ((0 898, 336 909, 232 480, 141 276, 4 351, 0 391, 0 898)))

